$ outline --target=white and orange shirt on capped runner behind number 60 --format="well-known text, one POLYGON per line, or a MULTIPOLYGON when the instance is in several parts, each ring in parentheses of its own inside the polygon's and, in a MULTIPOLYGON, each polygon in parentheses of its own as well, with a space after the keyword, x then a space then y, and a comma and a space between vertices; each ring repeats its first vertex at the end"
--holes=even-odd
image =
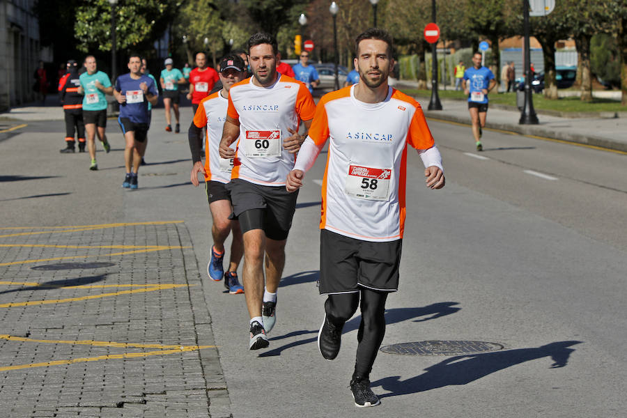
POLYGON ((205 135, 205 181, 231 181, 233 159, 220 157, 219 146, 222 139, 222 128, 226 121, 226 108, 229 100, 222 97, 220 91, 203 98, 194 115, 196 127, 206 127, 205 135))

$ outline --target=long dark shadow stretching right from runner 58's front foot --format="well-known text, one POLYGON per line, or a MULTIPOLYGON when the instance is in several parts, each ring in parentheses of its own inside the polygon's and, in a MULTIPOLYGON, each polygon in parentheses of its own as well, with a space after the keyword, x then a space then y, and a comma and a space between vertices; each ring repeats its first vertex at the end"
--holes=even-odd
POLYGON ((425 392, 431 389, 451 385, 466 385, 497 371, 507 369, 516 364, 550 357, 553 364, 550 369, 557 369, 568 364, 568 357, 575 351, 568 348, 582 341, 558 341, 538 348, 520 348, 516 350, 496 351, 474 355, 458 355, 425 369, 419 376, 400 380, 400 376, 390 376, 372 382, 371 386, 380 386, 389 394, 380 398, 425 392))

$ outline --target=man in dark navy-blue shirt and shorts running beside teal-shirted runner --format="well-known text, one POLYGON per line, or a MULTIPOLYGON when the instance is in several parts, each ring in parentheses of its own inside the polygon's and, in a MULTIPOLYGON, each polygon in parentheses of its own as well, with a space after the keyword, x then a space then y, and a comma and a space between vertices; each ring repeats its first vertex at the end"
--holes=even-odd
POLYGON ((124 164, 126 177, 122 187, 137 189, 137 171, 141 164, 141 156, 146 150, 146 133, 148 132, 148 103, 157 104, 157 86, 150 77, 141 74, 141 57, 131 55, 128 59, 130 72, 116 80, 114 96, 120 103, 118 123, 122 128, 126 146, 124 164))

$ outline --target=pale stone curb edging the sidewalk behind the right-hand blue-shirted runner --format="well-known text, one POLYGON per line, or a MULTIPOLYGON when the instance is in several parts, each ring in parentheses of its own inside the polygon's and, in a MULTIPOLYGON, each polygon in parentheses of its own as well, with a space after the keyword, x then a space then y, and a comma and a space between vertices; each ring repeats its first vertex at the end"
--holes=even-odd
MULTIPOLYGON (((450 121, 456 123, 463 123, 470 126, 470 119, 466 117, 447 115, 438 113, 439 111, 424 111, 424 116, 433 120, 450 121)), ((603 137, 587 136, 582 134, 572 134, 568 132, 561 132, 556 130, 547 130, 544 127, 538 125, 513 125, 508 123, 490 123, 486 122, 486 127, 498 130, 504 130, 509 132, 515 132, 516 134, 534 135, 538 137, 545 137, 548 139, 559 139, 559 141, 572 142, 574 144, 584 144, 589 146, 597 146, 601 148, 607 148, 609 150, 617 150, 623 153, 627 153, 627 144, 612 141, 611 139, 603 137)))

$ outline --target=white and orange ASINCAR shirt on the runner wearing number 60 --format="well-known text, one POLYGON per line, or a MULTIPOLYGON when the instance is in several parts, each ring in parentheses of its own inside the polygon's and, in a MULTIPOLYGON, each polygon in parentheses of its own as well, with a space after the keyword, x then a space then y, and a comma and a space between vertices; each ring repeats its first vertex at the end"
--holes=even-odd
POLYGON ((285 185, 295 154, 283 149, 283 140, 297 131, 300 121, 314 118, 316 104, 303 83, 281 75, 270 87, 256 86, 252 77, 231 86, 231 118, 240 121, 231 178, 258 185, 285 185))

